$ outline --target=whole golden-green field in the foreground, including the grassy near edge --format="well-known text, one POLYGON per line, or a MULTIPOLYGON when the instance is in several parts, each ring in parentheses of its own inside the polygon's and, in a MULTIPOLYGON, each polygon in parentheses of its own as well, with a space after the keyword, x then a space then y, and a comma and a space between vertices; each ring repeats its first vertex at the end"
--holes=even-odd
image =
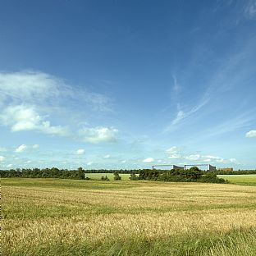
POLYGON ((256 255, 256 186, 2 179, 2 255, 256 255))

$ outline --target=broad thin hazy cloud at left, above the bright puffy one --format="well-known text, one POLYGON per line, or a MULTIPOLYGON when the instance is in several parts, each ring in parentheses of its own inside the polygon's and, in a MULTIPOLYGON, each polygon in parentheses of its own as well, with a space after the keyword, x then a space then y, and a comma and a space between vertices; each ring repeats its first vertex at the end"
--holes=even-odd
POLYGON ((77 86, 66 80, 40 71, 0 72, 0 95, 2 102, 32 105, 65 105, 66 100, 78 100, 96 111, 109 111, 110 99, 77 86))

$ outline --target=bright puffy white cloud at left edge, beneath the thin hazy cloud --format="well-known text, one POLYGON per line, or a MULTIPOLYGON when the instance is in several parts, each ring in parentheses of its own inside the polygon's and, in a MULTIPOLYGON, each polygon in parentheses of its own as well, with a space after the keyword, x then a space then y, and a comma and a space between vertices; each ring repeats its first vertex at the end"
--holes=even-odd
POLYGON ((39 130, 49 135, 68 135, 66 127, 51 126, 50 121, 34 110, 34 107, 16 105, 6 107, 0 115, 2 125, 11 126, 11 131, 39 130))

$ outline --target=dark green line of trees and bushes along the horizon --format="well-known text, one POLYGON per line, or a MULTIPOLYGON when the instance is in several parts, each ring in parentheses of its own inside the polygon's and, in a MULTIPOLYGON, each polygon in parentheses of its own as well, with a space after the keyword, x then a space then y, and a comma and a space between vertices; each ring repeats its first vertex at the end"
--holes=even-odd
MULTIPOLYGON (((240 171, 241 172, 241 171, 240 171)), ((245 171, 243 171, 244 174, 245 171)), ((1 177, 24 177, 24 178, 61 178, 75 180, 91 180, 85 178, 86 173, 113 173, 114 180, 120 181, 119 174, 129 173, 130 180, 148 180, 148 181, 182 181, 182 182, 211 182, 211 183, 226 183, 227 181, 218 178, 217 171, 201 171, 198 167, 191 167, 189 170, 172 169, 156 170, 156 169, 139 169, 139 170, 84 170, 79 167, 77 170, 66 170, 53 168, 34 168, 34 169, 11 169, 2 170, 1 177)), ((230 173, 230 171, 229 171, 230 173)), ((235 171, 236 173, 236 171, 235 171)), ((249 172, 251 173, 251 172, 249 172)), ((242 174, 242 173, 240 173, 242 174)), ((108 181, 107 176, 102 177, 103 181, 108 181)))

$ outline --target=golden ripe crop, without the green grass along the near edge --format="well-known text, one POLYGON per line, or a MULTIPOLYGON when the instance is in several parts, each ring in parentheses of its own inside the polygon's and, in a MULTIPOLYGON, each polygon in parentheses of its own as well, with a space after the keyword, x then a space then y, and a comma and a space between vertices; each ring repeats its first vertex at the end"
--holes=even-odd
POLYGON ((79 189, 36 181, 3 185, 2 245, 9 254, 56 243, 94 247, 130 237, 165 240, 256 227, 254 186, 121 181, 121 190, 109 181, 100 190, 88 186, 101 181, 84 181, 87 187, 79 189))

